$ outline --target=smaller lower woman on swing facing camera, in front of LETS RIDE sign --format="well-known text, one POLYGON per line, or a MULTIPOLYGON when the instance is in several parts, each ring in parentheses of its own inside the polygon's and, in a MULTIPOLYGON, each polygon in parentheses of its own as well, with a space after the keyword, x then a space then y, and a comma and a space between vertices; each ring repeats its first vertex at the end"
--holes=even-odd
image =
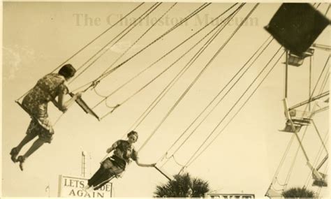
POLYGON ((133 147, 133 143, 138 140, 137 132, 131 131, 127 134, 127 137, 127 140, 117 140, 112 147, 106 150, 108 154, 112 151, 114 151, 114 153, 111 157, 101 162, 100 168, 91 179, 87 181, 87 186, 84 187, 84 190, 100 189, 110 181, 111 177, 124 172, 126 165, 131 159, 141 167, 154 167, 156 165, 156 163, 144 164, 138 161, 138 152, 133 147))

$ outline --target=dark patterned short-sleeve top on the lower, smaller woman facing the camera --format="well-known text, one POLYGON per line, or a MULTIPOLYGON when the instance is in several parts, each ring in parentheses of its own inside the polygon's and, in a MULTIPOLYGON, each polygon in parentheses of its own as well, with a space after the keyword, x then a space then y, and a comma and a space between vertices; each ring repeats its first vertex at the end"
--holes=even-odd
POLYGON ((114 155, 124 159, 126 163, 129 163, 130 159, 133 161, 138 160, 138 152, 134 149, 133 145, 126 140, 117 140, 113 145, 115 148, 114 155))

